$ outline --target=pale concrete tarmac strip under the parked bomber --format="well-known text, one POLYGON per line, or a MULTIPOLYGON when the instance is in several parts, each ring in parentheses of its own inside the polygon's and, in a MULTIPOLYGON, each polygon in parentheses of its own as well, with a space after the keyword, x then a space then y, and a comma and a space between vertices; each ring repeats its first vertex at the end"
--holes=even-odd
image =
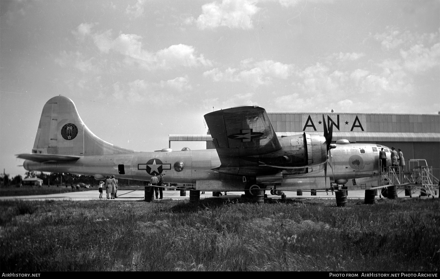
MULTIPOLYGON (((380 190, 378 190, 378 193, 380 190)), ((71 192, 71 193, 58 193, 51 195, 35 195, 35 196, 12 196, 12 197, 0 197, 0 201, 5 200, 28 200, 28 201, 36 201, 36 200, 66 200, 66 201, 88 201, 88 200, 101 200, 101 201, 143 201, 144 200, 144 189, 139 188, 139 190, 118 190, 117 198, 114 200, 107 200, 106 193, 103 193, 103 198, 99 198, 98 190, 89 190, 89 191, 81 191, 81 192, 71 192)), ((227 192, 220 198, 228 199, 228 198, 240 198, 244 192, 227 192)), ((316 196, 312 196, 311 192, 302 191, 302 196, 297 195, 297 191, 283 191, 286 194, 287 198, 333 198, 336 200, 335 195, 332 195, 331 191, 318 191, 316 192, 316 196)), ((438 193, 438 192, 437 192, 438 193)), ((268 198, 281 199, 281 196, 271 195, 267 190, 266 194, 268 198)), ((164 190, 163 198, 164 199, 172 199, 172 200, 189 200, 189 190, 186 191, 185 196, 181 195, 180 190, 164 190)), ((416 191, 412 193, 412 197, 418 197, 419 192, 416 191)), ((409 198, 409 196, 405 196, 404 189, 397 190, 398 198, 409 198)), ((438 196, 435 196, 438 198, 438 196)), ((205 191, 205 193, 200 193, 200 199, 205 198, 219 198, 213 197, 213 192, 205 191)), ((365 198, 365 189, 362 190, 348 190, 347 198, 356 198, 356 199, 364 199, 365 198)), ((379 196, 376 196, 378 199, 379 196)), ((431 196, 432 198, 432 196, 431 196)), ((154 199, 156 200, 156 199, 154 199)))

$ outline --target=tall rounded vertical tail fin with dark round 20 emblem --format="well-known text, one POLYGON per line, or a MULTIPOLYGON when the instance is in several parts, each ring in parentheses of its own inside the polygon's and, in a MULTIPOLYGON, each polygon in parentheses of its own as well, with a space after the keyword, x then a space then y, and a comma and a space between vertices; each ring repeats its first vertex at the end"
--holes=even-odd
POLYGON ((91 156, 133 153, 93 134, 84 124, 72 100, 53 97, 44 105, 32 153, 91 156))

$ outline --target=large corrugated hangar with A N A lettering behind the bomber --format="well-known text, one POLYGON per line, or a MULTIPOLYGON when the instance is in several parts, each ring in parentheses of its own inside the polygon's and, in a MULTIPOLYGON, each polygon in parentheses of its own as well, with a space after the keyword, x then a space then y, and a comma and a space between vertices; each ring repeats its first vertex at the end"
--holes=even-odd
MULTIPOLYGON (((433 175, 440 178, 440 115, 268 113, 279 137, 303 132, 323 134, 323 115, 327 127, 333 122, 333 143, 347 139, 400 148, 405 161, 425 159, 433 167, 433 175)), ((209 134, 169 135, 169 141, 206 141, 206 149, 214 148, 209 134)))

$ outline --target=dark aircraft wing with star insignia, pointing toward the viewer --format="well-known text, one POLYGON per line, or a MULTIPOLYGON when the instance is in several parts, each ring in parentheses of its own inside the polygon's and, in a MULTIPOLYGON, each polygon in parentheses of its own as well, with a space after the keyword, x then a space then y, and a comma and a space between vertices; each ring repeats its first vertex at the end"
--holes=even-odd
POLYGON ((281 144, 264 108, 242 106, 205 114, 222 165, 230 158, 275 152, 281 144))

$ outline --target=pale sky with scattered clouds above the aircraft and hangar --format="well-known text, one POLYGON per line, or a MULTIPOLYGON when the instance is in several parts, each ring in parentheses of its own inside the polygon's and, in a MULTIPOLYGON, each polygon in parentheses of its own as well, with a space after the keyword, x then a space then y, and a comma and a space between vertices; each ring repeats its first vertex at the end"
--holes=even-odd
POLYGON ((142 151, 242 104, 436 114, 439 27, 440 1, 3 0, 1 171, 24 173, 14 154, 30 153, 57 95, 100 138, 142 151))

